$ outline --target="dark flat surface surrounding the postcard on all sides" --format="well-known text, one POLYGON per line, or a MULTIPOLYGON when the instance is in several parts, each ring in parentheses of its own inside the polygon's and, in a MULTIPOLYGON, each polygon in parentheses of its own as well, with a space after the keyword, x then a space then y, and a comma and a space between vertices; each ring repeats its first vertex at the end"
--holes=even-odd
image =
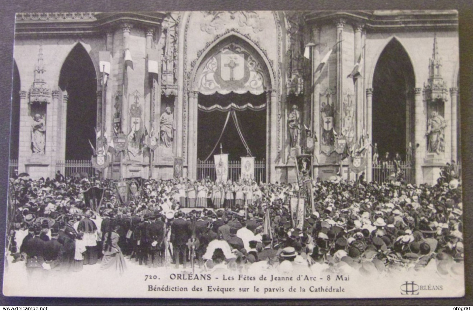
MULTIPOLYGON (((473 6, 467 0, 3 0, 0 32, 0 249, 5 247, 5 214, 8 184, 10 102, 13 73, 13 34, 16 12, 113 12, 170 10, 374 10, 374 9, 456 9, 460 32, 461 140, 464 191, 465 297, 445 299, 307 299, 307 300, 188 300, 188 299, 86 299, 86 298, 23 298, 0 294, 1 305, 204 305, 204 304, 278 304, 278 305, 471 305, 473 303, 473 6)), ((3 276, 3 256, 0 256, 3 276)), ((73 284, 73 278, 70 279, 73 284)), ((448 310, 448 309, 446 309, 448 310)))

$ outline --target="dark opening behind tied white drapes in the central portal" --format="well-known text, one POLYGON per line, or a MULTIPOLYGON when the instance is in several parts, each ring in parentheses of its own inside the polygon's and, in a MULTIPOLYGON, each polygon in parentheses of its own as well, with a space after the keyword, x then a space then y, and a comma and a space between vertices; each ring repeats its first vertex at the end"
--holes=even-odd
MULTIPOLYGON (((239 109, 234 109, 234 111, 249 149, 255 160, 264 160, 266 158, 266 108, 255 110, 247 106, 247 108, 243 109, 246 104, 251 104, 253 107, 264 105, 266 103, 265 93, 261 95, 253 95, 249 92, 245 94, 231 92, 225 95, 219 93, 212 95, 199 94, 198 102, 199 105, 206 108, 214 105, 227 107, 231 103, 238 106, 239 109)), ((228 160, 240 160, 240 157, 248 155, 231 116, 228 118, 228 124, 222 134, 220 143, 211 152, 222 133, 227 115, 228 111, 221 111, 219 109, 211 112, 199 109, 197 115, 198 159, 203 161, 210 155, 209 160, 213 160, 212 156, 220 153, 220 143, 222 143, 223 153, 228 153, 228 160)))

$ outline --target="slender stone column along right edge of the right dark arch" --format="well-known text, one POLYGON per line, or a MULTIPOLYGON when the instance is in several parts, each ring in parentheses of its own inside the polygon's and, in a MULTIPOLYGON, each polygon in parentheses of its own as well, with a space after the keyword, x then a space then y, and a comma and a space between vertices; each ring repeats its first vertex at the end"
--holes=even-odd
POLYGON ((423 182, 422 163, 427 150, 425 133, 425 109, 422 101, 422 88, 414 88, 414 152, 415 152, 415 183, 420 185, 423 182))

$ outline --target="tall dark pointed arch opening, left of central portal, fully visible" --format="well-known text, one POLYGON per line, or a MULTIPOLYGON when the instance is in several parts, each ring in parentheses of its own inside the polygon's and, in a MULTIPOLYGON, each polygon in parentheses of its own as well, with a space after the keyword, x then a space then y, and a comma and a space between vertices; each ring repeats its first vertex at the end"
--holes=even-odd
POLYGON ((97 80, 92 59, 82 44, 70 51, 61 67, 59 87, 66 91, 65 160, 90 160, 97 123, 97 80))

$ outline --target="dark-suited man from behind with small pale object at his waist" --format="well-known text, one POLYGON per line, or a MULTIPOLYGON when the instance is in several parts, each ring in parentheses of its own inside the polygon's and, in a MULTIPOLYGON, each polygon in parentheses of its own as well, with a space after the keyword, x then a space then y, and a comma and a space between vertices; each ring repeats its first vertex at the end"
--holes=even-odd
POLYGON ((150 224, 146 227, 147 240, 149 241, 148 256, 152 267, 162 266, 164 246, 164 222, 157 219, 156 215, 149 216, 150 224))

